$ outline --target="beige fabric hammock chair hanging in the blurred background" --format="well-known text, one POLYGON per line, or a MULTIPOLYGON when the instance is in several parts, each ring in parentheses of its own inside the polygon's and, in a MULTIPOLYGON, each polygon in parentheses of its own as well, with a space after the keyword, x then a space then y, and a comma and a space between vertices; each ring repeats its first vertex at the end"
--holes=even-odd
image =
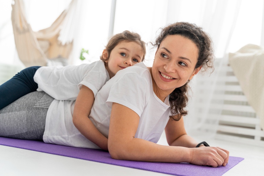
POLYGON ((12 4, 12 25, 19 59, 26 67, 67 65, 72 51, 77 0, 72 0, 53 24, 40 31, 32 31, 28 24, 23 0, 12 4))

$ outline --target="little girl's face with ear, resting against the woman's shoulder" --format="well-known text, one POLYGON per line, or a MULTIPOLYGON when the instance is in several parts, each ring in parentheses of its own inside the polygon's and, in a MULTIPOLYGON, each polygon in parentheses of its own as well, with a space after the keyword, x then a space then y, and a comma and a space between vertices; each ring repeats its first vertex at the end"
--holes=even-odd
MULTIPOLYGON (((107 52, 104 50, 103 55, 107 52)), ((136 42, 122 41, 111 51, 110 57, 105 62, 106 70, 112 78, 119 70, 135 65, 143 59, 143 49, 136 42)))

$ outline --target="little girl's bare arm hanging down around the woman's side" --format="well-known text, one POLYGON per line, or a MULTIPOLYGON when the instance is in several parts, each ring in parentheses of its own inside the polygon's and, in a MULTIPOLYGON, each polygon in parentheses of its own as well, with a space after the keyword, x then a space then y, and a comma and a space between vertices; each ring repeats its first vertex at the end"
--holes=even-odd
POLYGON ((88 118, 93 103, 93 91, 82 85, 75 102, 72 121, 84 137, 98 145, 101 149, 108 150, 107 138, 97 130, 88 118))

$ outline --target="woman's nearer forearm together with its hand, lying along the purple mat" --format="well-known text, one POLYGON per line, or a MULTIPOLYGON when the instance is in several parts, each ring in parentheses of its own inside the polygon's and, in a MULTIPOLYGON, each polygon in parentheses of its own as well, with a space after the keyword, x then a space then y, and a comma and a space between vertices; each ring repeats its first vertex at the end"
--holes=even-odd
POLYGON ((147 162, 187 162, 212 167, 225 166, 229 152, 218 147, 187 148, 164 146, 143 139, 130 141, 112 141, 109 138, 109 152, 112 158, 147 162))

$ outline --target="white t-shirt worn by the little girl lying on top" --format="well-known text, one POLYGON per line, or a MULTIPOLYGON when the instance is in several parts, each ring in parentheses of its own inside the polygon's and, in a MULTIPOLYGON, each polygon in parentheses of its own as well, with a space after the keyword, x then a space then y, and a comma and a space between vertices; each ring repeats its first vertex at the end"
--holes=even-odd
POLYGON ((34 75, 37 91, 44 91, 57 100, 76 100, 82 85, 89 87, 95 97, 109 79, 101 60, 77 66, 40 67, 34 75))

